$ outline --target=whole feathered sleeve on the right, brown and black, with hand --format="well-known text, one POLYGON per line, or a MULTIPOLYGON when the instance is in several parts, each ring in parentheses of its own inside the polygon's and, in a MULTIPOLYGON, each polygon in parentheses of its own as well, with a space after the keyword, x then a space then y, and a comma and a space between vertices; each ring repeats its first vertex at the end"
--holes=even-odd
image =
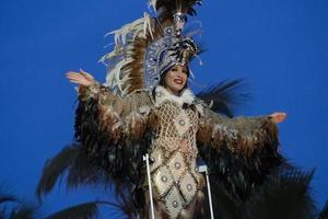
POLYGON ((284 113, 273 113, 229 118, 206 108, 197 139, 212 181, 222 182, 234 198, 245 201, 285 162, 279 152, 277 127, 285 117, 284 113))

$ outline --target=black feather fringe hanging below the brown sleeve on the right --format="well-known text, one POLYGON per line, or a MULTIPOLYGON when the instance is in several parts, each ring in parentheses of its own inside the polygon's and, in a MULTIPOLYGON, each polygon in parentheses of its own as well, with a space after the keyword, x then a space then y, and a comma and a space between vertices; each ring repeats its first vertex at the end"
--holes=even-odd
POLYGON ((237 201, 245 201, 261 185, 266 176, 274 172, 283 159, 270 146, 258 149, 250 157, 211 147, 200 147, 200 157, 208 164, 211 177, 222 182, 229 194, 237 201))

